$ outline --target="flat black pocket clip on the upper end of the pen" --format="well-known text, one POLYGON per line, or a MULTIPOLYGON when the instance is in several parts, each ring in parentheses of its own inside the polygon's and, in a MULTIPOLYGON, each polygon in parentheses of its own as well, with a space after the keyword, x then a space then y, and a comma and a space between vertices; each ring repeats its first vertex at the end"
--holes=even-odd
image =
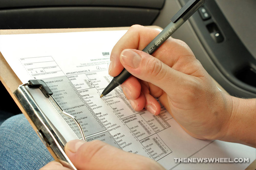
POLYGON ((188 1, 171 19, 173 23, 177 22, 182 18, 191 8, 193 8, 201 0, 190 0, 188 1))

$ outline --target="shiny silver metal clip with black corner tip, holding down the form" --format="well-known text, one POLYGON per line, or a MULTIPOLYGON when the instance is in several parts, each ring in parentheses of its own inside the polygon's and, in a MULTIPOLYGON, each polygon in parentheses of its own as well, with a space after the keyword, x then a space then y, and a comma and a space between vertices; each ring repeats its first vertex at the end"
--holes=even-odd
POLYGON ((62 165, 71 169, 76 169, 76 167, 72 164, 72 162, 65 154, 64 147, 67 143, 66 140, 38 106, 37 102, 30 94, 28 90, 29 88, 39 88, 44 96, 52 101, 51 104, 54 103, 57 106, 55 107, 56 109, 58 108, 63 115, 71 118, 76 123, 81 133, 82 139, 86 141, 86 137, 84 135, 81 125, 74 116, 66 113, 60 107, 58 102, 52 96, 53 92, 49 89, 49 87, 43 80, 29 80, 27 83, 20 85, 17 90, 15 90, 14 95, 23 106, 28 116, 34 122, 35 126, 38 129, 37 133, 43 143, 46 145, 46 147, 50 147, 52 149, 62 165))

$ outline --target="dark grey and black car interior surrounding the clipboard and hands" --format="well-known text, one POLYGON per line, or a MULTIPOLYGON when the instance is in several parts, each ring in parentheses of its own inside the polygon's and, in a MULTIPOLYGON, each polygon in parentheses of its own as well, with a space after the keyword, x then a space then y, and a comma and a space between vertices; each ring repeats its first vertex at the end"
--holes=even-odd
MULTIPOLYGON (((0 0, 0 29, 166 27, 188 0, 0 0)), ((230 95, 255 98, 256 1, 208 0, 173 35, 230 95)), ((1 122, 21 113, 1 83, 1 122), (4 99, 4 100, 3 100, 4 99), (12 107, 9 107, 12 106, 12 107)))

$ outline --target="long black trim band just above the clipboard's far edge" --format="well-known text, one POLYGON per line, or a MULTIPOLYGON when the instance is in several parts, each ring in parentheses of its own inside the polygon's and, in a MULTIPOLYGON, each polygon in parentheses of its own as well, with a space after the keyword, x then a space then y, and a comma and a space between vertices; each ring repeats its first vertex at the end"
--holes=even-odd
POLYGON ((94 28, 151 25, 157 9, 48 7, 0 10, 1 29, 94 28))

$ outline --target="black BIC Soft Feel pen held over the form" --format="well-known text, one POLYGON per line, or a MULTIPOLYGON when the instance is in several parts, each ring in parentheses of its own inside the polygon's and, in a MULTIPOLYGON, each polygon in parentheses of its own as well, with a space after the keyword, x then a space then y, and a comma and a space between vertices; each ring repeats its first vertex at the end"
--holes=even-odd
MULTIPOLYGON (((171 19, 169 23, 142 51, 152 54, 161 46, 189 17, 191 17, 198 8, 207 0, 189 0, 171 19)), ((122 84, 131 74, 126 70, 112 79, 109 85, 103 90, 100 98, 110 93, 114 88, 122 84)))

